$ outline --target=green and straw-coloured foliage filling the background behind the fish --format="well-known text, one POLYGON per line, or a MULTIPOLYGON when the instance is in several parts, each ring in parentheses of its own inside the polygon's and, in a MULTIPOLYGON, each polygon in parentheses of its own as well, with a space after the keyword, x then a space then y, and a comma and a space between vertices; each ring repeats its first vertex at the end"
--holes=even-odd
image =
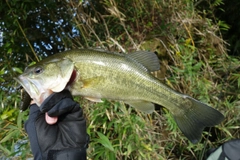
POLYGON ((223 1, 204 2, 1 1, 1 155, 31 155, 23 129, 28 111, 18 110, 12 77, 32 61, 79 47, 154 51, 161 62, 155 76, 226 117, 193 145, 165 109, 146 115, 120 102, 76 97, 88 120, 89 159, 204 159, 207 149, 239 138, 240 60, 227 54, 222 31, 229 26, 215 16, 223 1))

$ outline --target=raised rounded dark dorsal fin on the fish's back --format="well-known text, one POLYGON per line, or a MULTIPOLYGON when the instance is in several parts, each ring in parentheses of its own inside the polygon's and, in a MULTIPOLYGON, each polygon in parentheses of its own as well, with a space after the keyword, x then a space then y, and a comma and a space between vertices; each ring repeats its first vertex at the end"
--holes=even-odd
POLYGON ((126 57, 142 64, 150 72, 158 71, 160 69, 159 59, 153 52, 136 51, 127 54, 126 57))

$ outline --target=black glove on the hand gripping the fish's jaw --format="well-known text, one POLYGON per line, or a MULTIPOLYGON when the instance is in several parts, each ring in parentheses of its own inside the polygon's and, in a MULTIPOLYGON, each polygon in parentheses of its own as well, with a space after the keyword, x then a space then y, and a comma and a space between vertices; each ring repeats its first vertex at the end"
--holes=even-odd
POLYGON ((31 105, 25 130, 35 160, 86 160, 89 142, 86 120, 68 90, 53 93, 40 108, 31 105), (45 112, 51 117, 57 116, 57 123, 47 124, 45 112))

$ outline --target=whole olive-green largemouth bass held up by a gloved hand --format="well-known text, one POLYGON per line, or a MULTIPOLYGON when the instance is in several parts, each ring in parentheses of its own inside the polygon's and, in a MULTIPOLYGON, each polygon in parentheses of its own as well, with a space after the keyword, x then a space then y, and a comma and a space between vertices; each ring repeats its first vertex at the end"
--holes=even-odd
POLYGON ((178 93, 150 72, 159 70, 158 57, 137 51, 121 55, 93 49, 58 53, 26 68, 16 80, 40 106, 52 92, 69 89, 94 102, 123 101, 152 113, 154 103, 167 108, 178 127, 192 142, 200 140, 205 127, 219 124, 224 116, 196 99, 178 93))

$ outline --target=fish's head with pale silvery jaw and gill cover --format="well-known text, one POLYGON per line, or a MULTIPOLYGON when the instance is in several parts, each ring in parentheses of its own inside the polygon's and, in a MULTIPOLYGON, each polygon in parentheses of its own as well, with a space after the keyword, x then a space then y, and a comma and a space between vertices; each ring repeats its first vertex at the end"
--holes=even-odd
POLYGON ((27 67, 14 78, 20 83, 38 106, 53 92, 61 92, 74 72, 70 59, 51 59, 27 67))

